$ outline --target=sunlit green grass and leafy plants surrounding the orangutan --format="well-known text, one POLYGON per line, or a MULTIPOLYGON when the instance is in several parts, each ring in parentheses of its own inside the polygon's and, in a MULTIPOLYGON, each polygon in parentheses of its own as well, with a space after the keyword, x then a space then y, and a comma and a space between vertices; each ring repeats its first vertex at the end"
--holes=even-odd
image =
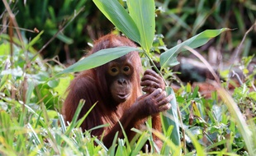
MULTIPOLYGON (((172 108, 162 115, 164 132, 154 131, 148 124, 147 131, 134 129, 138 132, 138 140, 129 143, 126 138, 114 138, 110 149, 106 149, 101 140, 92 137, 90 130, 83 133, 78 128, 83 119, 77 121, 76 115, 86 102, 81 101, 73 122, 65 126, 60 108, 64 91, 73 79, 72 73, 100 66, 138 50, 144 67, 154 67, 167 85, 177 80, 172 67, 178 64, 178 55, 188 55, 189 52, 199 57, 214 75, 215 71, 211 70, 208 62, 191 48, 198 48, 219 34, 217 39, 220 40, 216 41, 216 46, 225 44, 224 34, 230 35, 230 29, 234 28, 225 25, 229 21, 228 12, 235 5, 233 1, 201 0, 197 1, 197 7, 193 7, 192 2, 187 1, 93 0, 99 9, 97 12, 101 11, 116 27, 115 32, 125 34, 140 48, 101 50, 67 68, 55 55, 67 46, 72 48, 68 52, 74 53, 87 42, 89 37, 82 36, 83 25, 88 26, 85 17, 97 9, 92 7, 92 2, 65 0, 61 6, 49 1, 24 1, 26 6, 23 6, 23 1, 10 4, 6 0, 2 2, 5 9, 1 9, 4 11, 0 16, 3 21, 0 31, 0 155, 137 155, 143 154, 141 148, 146 140, 152 140, 152 133, 164 141, 164 146, 160 150, 146 151, 149 154, 253 155, 256 152, 255 64, 253 70, 249 69, 250 62, 254 61, 254 55, 250 54, 255 51, 252 46, 255 35, 252 38, 246 36, 256 27, 253 1, 234 2, 243 4, 239 9, 246 10, 246 19, 252 21, 249 27, 253 26, 244 35, 248 27, 243 23, 245 13, 239 14, 239 9, 235 8, 233 13, 242 35, 235 35, 233 42, 222 50, 237 48, 239 55, 244 45, 244 57, 236 56, 239 62, 231 62, 227 70, 219 71, 221 81, 216 77, 211 82, 216 88, 211 97, 202 96, 199 87, 192 87, 189 83, 184 85, 180 82, 181 87, 175 94, 168 87, 168 93, 176 96, 176 99, 171 102, 172 108), (177 8, 168 9, 176 4, 177 8), (8 9, 10 6, 14 10, 8 9), (17 16, 14 17, 13 13, 17 13, 17 16), (223 18, 221 15, 225 13, 227 15, 223 18), (158 16, 156 20, 155 15, 158 16), (194 15, 192 19, 191 15, 194 15), (172 30, 166 32, 170 25, 173 25, 172 30), (31 35, 21 29, 31 30, 34 27, 44 31, 31 35), (160 34, 164 34, 165 40, 160 34), (178 39, 183 39, 183 43, 176 45, 178 39), (167 46, 173 48, 168 49, 164 44, 166 41, 171 41, 167 46), (46 59, 39 53, 52 58, 46 59), (242 71, 244 78, 238 75, 239 85, 229 90, 229 85, 235 83, 230 79, 235 67, 242 71), (233 94, 230 94, 231 91, 233 94)), ((105 23, 107 19, 98 22, 105 23)))

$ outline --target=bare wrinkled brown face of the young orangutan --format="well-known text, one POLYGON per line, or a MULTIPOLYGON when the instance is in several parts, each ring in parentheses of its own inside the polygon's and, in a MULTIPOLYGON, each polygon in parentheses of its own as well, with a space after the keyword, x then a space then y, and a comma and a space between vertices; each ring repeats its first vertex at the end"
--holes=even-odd
POLYGON ((112 99, 116 103, 124 103, 130 99, 134 68, 129 57, 118 58, 107 65, 107 80, 112 99))

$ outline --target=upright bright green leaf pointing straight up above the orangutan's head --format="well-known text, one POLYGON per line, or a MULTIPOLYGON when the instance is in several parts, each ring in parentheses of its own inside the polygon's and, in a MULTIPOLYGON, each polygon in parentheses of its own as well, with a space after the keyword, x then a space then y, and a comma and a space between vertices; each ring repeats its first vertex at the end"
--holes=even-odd
POLYGON ((140 32, 141 47, 149 52, 154 40, 154 0, 127 0, 127 6, 140 32))

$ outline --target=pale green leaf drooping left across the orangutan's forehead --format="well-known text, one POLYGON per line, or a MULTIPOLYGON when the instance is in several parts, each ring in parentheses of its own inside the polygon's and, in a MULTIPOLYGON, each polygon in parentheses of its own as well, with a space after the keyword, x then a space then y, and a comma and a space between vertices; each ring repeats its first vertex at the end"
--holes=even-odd
POLYGON ((126 46, 102 49, 97 53, 92 53, 92 55, 83 58, 83 60, 79 62, 74 63, 72 66, 64 69, 64 71, 61 71, 59 74, 85 71, 94 67, 99 67, 132 51, 140 51, 140 49, 126 46))

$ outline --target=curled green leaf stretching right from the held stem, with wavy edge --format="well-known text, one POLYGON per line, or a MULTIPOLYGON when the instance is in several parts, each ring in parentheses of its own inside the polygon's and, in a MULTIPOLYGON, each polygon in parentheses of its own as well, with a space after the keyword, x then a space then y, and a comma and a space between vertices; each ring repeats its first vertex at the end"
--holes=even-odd
POLYGON ((160 65, 163 69, 164 67, 173 67, 177 65, 179 62, 177 61, 176 57, 178 53, 185 51, 186 49, 183 48, 184 46, 188 46, 191 48, 197 48, 201 45, 206 44, 210 39, 216 37, 220 33, 230 30, 228 28, 222 28, 220 30, 205 30, 200 34, 193 36, 190 39, 187 39, 182 44, 178 44, 173 48, 170 48, 166 52, 160 55, 160 65))

